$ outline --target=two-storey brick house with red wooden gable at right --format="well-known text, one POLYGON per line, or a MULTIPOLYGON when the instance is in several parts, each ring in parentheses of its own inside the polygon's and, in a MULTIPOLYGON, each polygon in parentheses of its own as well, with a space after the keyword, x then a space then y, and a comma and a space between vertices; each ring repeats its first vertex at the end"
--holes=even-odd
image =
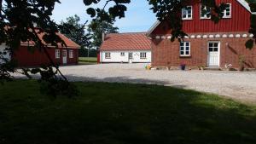
POLYGON ((181 43, 171 42, 172 30, 166 21, 156 22, 148 32, 152 39, 152 65, 239 67, 243 57, 248 68, 255 68, 256 48, 249 50, 245 46, 253 37, 248 33, 252 14, 248 3, 245 0, 216 0, 216 3, 229 4, 217 24, 201 13, 201 3, 191 1, 182 10, 183 31, 189 36, 181 43))

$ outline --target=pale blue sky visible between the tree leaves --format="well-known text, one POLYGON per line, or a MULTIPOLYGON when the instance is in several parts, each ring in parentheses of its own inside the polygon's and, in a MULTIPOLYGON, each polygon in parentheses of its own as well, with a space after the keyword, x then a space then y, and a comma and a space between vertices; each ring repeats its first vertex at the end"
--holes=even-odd
MULTIPOLYGON (((106 0, 102 0, 102 2, 106 2, 106 0)), ((102 8, 103 3, 99 3, 94 7, 102 8)), ((114 24, 119 27, 119 32, 146 32, 154 24, 156 18, 152 10, 149 9, 150 6, 147 0, 131 0, 127 8, 125 18, 117 19, 114 24)), ((61 0, 61 4, 55 6, 52 18, 59 23, 74 14, 79 15, 81 22, 90 20, 90 16, 86 14, 83 0, 61 0)))

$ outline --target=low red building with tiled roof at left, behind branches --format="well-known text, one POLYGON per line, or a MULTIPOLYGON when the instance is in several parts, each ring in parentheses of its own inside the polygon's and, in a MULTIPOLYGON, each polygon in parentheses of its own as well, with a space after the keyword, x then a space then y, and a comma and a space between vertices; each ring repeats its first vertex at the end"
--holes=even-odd
MULTIPOLYGON (((58 45, 58 49, 55 46, 48 45, 48 52, 55 64, 58 65, 76 65, 79 62, 79 44, 74 43, 61 33, 56 33, 67 44, 67 46, 58 45)), ((42 34, 38 34, 40 38, 42 34)), ((50 64, 47 55, 43 50, 35 49, 33 52, 29 50, 28 46, 33 46, 33 42, 21 43, 20 48, 15 50, 12 58, 17 60, 19 66, 42 66, 50 64)))

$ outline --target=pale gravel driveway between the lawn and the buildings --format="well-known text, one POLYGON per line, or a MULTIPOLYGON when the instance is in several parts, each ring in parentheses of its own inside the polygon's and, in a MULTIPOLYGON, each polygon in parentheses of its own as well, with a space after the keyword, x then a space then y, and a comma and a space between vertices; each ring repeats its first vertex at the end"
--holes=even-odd
POLYGON ((63 66, 72 81, 160 84, 225 95, 256 103, 256 72, 146 71, 146 64, 63 66))

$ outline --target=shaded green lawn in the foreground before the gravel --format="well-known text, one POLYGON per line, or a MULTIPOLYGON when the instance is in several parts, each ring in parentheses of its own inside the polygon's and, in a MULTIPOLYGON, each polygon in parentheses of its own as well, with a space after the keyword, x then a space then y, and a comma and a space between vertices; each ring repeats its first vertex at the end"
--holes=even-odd
POLYGON ((0 144, 255 144, 256 107, 156 85, 76 83, 68 99, 32 80, 0 85, 0 144))

